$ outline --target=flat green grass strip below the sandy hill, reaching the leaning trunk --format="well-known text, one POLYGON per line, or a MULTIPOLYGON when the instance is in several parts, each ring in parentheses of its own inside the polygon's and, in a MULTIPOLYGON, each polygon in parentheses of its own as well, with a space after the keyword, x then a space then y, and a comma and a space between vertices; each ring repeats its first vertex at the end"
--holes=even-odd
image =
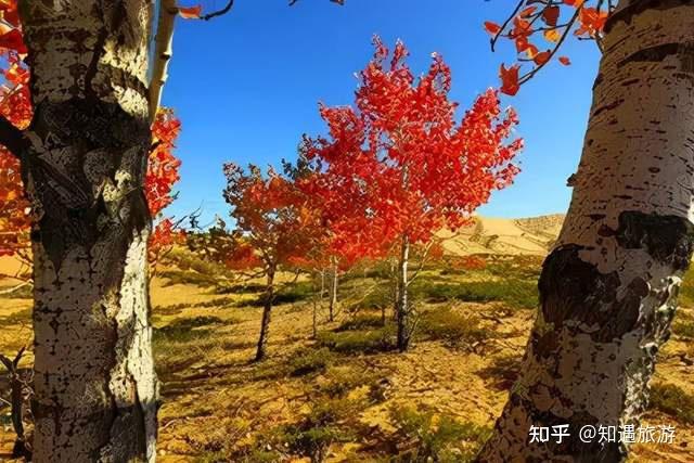
POLYGON ((531 309, 538 305, 537 282, 506 278, 500 281, 475 281, 460 284, 420 281, 411 288, 414 299, 428 303, 463 300, 466 303, 502 301, 515 308, 531 309))

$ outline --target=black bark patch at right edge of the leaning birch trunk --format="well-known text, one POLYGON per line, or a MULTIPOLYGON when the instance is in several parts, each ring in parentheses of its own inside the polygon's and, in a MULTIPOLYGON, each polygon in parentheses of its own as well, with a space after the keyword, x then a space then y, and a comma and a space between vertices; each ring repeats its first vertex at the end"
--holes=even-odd
POLYGON ((626 249, 644 249, 657 262, 684 271, 694 250, 694 227, 677 216, 627 210, 619 215, 617 242, 626 249))

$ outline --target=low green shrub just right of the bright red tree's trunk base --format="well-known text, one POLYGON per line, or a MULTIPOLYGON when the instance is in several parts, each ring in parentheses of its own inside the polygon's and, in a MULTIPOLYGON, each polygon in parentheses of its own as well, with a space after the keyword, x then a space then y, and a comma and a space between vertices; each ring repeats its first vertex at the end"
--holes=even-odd
POLYGON ((475 349, 494 333, 481 325, 478 317, 451 309, 430 310, 422 313, 417 325, 420 333, 429 339, 439 339, 449 346, 475 349))

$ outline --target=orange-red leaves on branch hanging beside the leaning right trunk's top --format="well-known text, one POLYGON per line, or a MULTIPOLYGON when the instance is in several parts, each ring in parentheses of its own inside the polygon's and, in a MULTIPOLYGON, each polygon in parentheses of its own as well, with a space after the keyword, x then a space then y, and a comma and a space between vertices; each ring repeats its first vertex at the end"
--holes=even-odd
MULTIPOLYGON (((485 29, 492 36, 492 48, 499 38, 505 38, 514 42, 518 53, 517 63, 511 67, 501 65, 501 91, 516 94, 520 85, 556 55, 571 31, 580 39, 600 42, 612 10, 611 1, 601 0, 520 0, 503 25, 485 22, 485 29), (520 63, 531 63, 534 68, 520 75, 520 63)), ((567 56, 558 56, 558 61, 565 66, 570 64, 567 56)))

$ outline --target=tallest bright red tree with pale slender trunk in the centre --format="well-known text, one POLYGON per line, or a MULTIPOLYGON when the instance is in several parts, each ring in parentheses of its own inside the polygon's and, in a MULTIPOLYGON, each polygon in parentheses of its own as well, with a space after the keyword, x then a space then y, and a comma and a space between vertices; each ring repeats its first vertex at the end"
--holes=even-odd
POLYGON ((314 195, 336 250, 363 255, 397 246, 398 347, 406 350, 413 329, 411 246, 432 243, 445 227, 460 228, 493 190, 509 185, 523 143, 509 141, 516 115, 501 110, 496 91, 480 95, 458 121, 441 56, 434 54, 417 80, 404 44, 398 42, 393 55, 378 38, 374 44, 355 106, 321 105, 330 138, 306 138, 304 151, 321 166, 314 195))

